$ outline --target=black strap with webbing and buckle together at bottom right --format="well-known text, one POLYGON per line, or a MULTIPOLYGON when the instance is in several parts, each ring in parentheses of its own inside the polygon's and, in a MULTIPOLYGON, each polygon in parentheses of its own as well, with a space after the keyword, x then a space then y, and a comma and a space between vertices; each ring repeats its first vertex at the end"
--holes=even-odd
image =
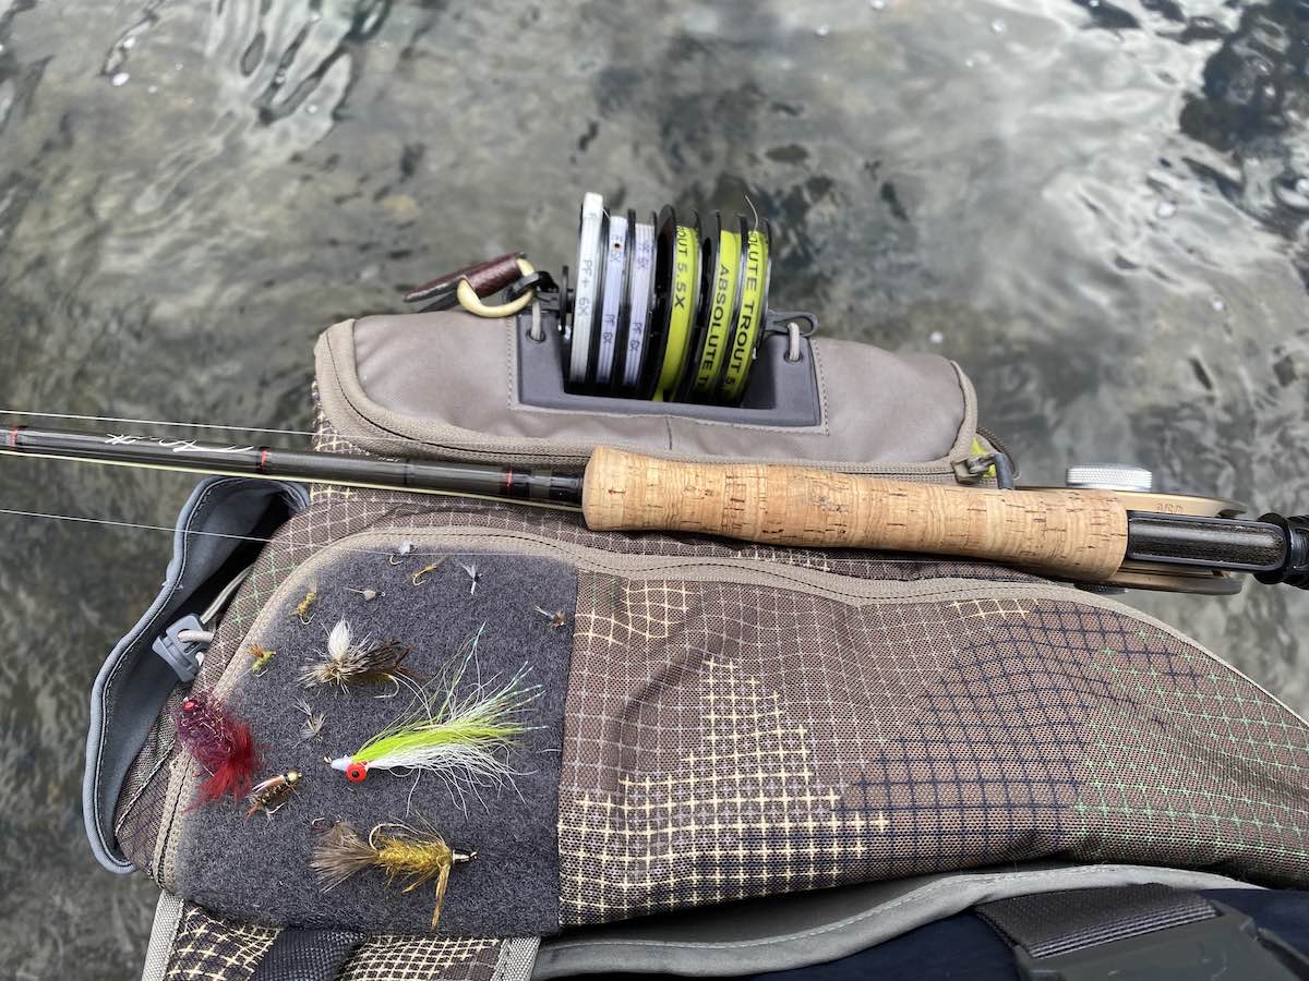
POLYGON ((1309 960, 1250 917, 1166 886, 1041 892, 974 912, 1031 981, 1181 981, 1224 968, 1242 981, 1309 978, 1309 960))

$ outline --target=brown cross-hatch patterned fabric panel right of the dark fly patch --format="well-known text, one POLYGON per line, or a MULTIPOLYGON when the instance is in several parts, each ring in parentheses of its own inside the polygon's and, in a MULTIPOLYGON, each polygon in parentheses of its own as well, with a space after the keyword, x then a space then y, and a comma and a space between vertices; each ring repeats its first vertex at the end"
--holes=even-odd
POLYGON ((1309 880, 1309 731, 1126 611, 580 593, 565 923, 1056 854, 1309 880))

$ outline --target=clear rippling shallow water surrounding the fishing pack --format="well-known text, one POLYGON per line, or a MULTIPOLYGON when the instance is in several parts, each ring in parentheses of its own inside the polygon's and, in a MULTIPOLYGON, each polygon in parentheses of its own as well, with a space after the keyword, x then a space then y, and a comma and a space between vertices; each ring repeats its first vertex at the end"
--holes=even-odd
MULTIPOLYGON (((1309 5, 0 0, 0 405, 304 428, 314 335, 584 190, 781 229, 774 303, 957 358, 1073 460, 1309 510, 1309 5)), ((186 477, 0 466, 169 525, 186 477)), ((161 532, 0 515, 0 964, 140 968, 82 840, 86 692, 161 532)), ((1309 598, 1134 596, 1299 709, 1309 598)))

